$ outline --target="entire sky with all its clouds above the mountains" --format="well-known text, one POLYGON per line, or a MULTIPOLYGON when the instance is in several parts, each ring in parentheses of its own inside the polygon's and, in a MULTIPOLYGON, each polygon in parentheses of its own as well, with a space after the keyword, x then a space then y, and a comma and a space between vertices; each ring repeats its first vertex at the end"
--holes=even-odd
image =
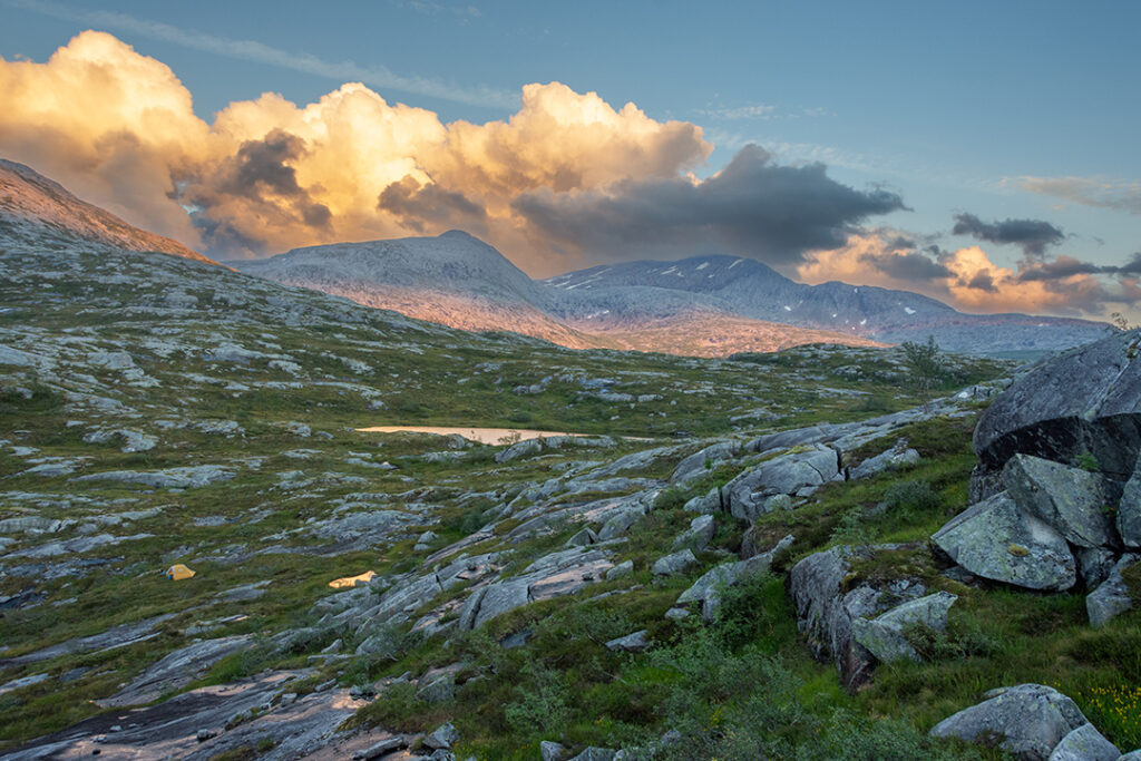
POLYGON ((466 229, 1141 319, 1141 3, 0 0, 0 156, 218 259, 466 229))

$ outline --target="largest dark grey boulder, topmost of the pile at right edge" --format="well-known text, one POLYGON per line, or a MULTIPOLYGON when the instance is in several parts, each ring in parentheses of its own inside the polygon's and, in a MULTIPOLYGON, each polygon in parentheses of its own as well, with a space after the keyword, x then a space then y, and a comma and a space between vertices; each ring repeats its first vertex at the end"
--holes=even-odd
POLYGON ((1014 454, 1076 463, 1127 478, 1141 451, 1141 331, 1112 334, 1052 356, 1019 378, 974 429, 986 470, 1014 454))

